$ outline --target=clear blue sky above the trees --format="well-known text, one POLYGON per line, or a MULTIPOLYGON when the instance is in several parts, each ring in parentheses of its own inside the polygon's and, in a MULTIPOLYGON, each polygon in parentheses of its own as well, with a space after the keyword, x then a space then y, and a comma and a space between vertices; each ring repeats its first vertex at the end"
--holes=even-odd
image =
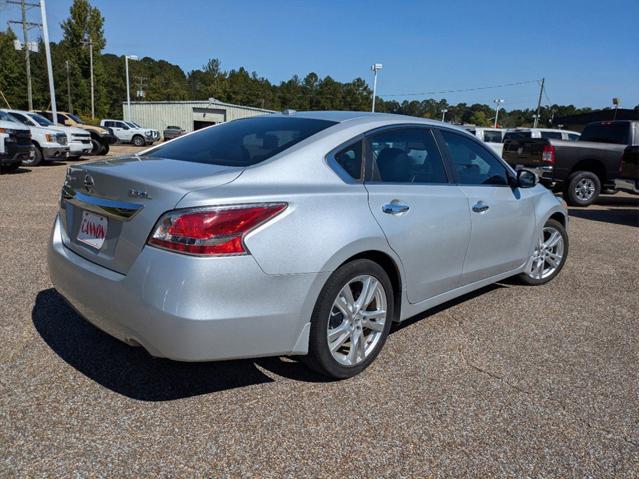
MULTIPOLYGON (((271 81, 314 71, 372 84, 378 94, 420 93, 546 78, 552 103, 639 104, 639 0, 226 1, 93 0, 106 51, 162 58, 188 71, 217 57, 271 81)), ((48 2, 53 40, 71 0, 48 2)), ((6 8, 0 15, 6 16, 6 8)), ((0 19, 4 23, 4 18, 0 19)), ((536 83, 425 95, 525 108, 536 83)))

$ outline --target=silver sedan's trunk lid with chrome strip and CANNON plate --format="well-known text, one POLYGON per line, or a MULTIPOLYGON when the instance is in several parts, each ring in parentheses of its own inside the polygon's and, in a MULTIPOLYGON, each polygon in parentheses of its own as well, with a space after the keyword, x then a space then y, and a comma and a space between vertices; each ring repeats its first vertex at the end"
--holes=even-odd
POLYGON ((187 193, 230 183, 242 171, 136 156, 70 167, 60 201, 63 242, 80 256, 126 274, 163 213, 187 193))

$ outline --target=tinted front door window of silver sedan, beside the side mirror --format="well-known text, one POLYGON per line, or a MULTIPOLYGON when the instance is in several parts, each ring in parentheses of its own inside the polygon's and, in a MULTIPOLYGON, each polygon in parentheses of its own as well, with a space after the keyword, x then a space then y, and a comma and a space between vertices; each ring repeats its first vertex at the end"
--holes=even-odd
POLYGON ((460 184, 508 185, 506 167, 481 144, 449 131, 442 136, 460 184))

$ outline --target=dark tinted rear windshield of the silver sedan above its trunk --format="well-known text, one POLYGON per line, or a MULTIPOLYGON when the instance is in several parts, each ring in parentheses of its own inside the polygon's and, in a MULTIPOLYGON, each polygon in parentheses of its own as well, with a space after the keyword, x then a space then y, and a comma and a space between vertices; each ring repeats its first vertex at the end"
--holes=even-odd
POLYGON ((308 118, 245 118, 192 133, 140 156, 251 166, 332 125, 335 122, 308 118))

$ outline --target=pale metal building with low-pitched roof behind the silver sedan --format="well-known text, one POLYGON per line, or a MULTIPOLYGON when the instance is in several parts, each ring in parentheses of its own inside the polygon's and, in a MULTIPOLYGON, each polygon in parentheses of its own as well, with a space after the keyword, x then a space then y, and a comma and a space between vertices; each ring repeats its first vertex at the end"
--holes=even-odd
MULTIPOLYGON (((272 110, 232 105, 217 100, 203 101, 136 101, 131 102, 131 121, 160 133, 167 126, 179 126, 186 131, 249 116, 273 113, 272 110)), ((122 117, 127 118, 126 102, 122 117)))

